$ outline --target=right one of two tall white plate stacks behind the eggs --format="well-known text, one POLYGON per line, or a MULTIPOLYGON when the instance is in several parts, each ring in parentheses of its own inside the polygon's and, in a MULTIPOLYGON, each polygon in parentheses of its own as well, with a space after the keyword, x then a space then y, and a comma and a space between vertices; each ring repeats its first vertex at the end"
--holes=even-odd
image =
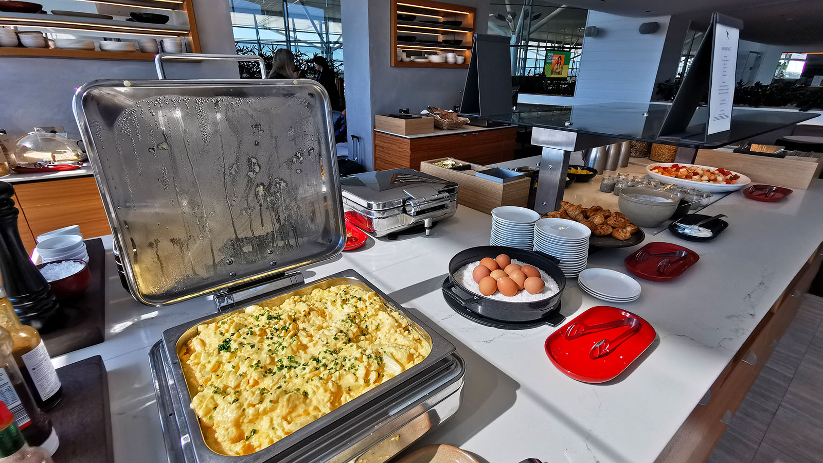
POLYGON ((542 218, 534 224, 534 250, 560 260, 566 278, 580 274, 588 263, 588 237, 585 225, 565 218, 542 218))

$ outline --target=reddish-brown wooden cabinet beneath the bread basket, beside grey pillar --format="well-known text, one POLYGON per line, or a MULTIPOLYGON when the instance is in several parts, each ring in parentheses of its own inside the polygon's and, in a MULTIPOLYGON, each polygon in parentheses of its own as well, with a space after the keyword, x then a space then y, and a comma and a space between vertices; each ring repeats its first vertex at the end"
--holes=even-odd
POLYGON ((419 170, 422 161, 454 157, 476 164, 514 159, 514 126, 495 129, 435 129, 434 133, 397 135, 374 130, 374 169, 397 167, 419 170))

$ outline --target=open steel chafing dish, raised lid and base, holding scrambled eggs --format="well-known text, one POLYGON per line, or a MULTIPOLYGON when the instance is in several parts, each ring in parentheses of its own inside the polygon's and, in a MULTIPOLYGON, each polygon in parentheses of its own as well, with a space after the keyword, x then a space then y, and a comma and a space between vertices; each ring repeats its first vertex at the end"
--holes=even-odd
POLYGON ((78 89, 74 110, 133 297, 152 306, 214 299, 214 315, 166 330, 151 348, 170 462, 382 463, 402 450, 398 436, 413 440, 458 408, 463 361, 440 334, 353 270, 303 281, 300 267, 337 256, 346 241, 317 82, 99 81, 78 89), (377 292, 431 343, 429 356, 261 451, 211 451, 177 357, 193 327, 340 283, 377 292))

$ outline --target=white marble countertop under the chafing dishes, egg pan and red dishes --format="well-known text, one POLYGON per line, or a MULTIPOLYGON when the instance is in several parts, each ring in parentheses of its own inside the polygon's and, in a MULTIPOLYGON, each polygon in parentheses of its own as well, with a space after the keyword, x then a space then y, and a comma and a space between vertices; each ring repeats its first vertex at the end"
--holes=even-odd
MULTIPOLYGON (((628 372, 601 385, 574 381, 551 365, 543 343, 556 328, 498 330, 446 305, 441 283, 449 260, 459 250, 488 244, 491 216, 484 213, 461 206, 429 237, 370 238, 360 250, 304 274, 311 281, 355 269, 438 327, 465 358, 463 405, 416 446, 449 443, 489 462, 651 462, 823 241, 821 202, 820 181, 779 203, 730 194, 704 211, 728 215, 730 227, 716 240, 647 236, 687 246, 700 261, 670 283, 639 280, 642 296, 622 307, 648 320, 658 339, 628 372)), ((623 259, 636 249, 602 250, 588 266, 625 271, 623 259)), ((108 257, 105 343, 54 362, 101 355, 109 372, 115 460, 165 461, 148 350, 163 330, 213 311, 212 302, 141 306, 123 291, 108 257)), ((573 279, 562 313, 572 317, 601 304, 573 279)))

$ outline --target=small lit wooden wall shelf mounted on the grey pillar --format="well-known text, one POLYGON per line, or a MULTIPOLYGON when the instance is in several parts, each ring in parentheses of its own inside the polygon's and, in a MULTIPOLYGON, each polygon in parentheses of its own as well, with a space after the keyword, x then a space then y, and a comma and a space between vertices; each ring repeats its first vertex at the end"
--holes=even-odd
POLYGON ((398 68, 468 68, 472 57, 472 40, 474 39, 474 25, 477 11, 472 7, 452 5, 450 3, 431 2, 430 0, 392 0, 391 7, 391 63, 398 68), (415 21, 398 20, 398 13, 418 16, 415 21), (463 21, 460 26, 447 26, 422 22, 421 18, 430 21, 463 21), (416 35, 417 40, 449 40, 459 39, 459 45, 426 44, 417 41, 399 41, 398 35, 416 35), (435 39, 436 38, 436 39, 435 39), (462 64, 449 63, 416 63, 401 61, 398 58, 398 49, 411 53, 455 53, 463 56, 462 64))

